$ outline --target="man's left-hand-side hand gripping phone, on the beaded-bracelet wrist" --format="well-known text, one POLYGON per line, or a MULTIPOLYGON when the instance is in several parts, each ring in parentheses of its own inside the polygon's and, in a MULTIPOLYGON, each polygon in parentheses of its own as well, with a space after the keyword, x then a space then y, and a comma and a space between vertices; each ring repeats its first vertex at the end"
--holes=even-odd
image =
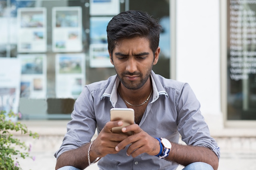
MULTIPOLYGON (((126 135, 122 134, 116 134, 112 133, 111 129, 113 127, 119 127, 122 126, 123 122, 122 121, 109 121, 106 123, 102 131, 100 131, 100 134, 94 141, 91 147, 91 152, 92 156, 97 157, 104 157, 107 154, 116 154, 119 152, 119 150, 116 150, 115 147, 123 141, 124 139, 127 138, 126 135)), ((125 146, 124 146, 125 147, 125 146)))

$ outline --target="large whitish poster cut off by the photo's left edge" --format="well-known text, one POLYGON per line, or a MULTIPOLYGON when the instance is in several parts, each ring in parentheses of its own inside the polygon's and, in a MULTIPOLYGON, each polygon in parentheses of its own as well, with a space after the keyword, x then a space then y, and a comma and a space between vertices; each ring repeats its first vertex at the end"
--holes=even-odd
POLYGON ((0 58, 0 110, 18 113, 20 100, 20 60, 0 58))

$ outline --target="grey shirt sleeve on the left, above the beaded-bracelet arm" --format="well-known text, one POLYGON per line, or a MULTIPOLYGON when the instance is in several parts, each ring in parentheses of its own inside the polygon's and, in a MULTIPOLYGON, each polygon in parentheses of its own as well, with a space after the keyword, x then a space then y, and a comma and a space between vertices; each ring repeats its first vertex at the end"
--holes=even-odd
POLYGON ((67 133, 62 145, 54 154, 56 158, 63 152, 76 149, 90 142, 95 133, 94 98, 88 86, 83 88, 82 93, 77 98, 71 118, 72 120, 67 124, 67 133))

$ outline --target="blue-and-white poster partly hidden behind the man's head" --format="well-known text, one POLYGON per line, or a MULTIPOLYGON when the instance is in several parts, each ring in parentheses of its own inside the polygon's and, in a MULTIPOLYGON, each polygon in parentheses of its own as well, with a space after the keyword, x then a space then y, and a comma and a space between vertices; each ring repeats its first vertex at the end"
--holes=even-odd
POLYGON ((112 17, 90 18, 90 67, 113 67, 108 54, 106 27, 112 17))

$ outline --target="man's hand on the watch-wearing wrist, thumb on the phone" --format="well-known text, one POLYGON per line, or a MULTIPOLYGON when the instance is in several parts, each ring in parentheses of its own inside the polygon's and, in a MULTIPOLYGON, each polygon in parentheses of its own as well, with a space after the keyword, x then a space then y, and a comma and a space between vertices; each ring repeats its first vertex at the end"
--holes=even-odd
POLYGON ((134 131, 134 135, 125 138, 122 142, 117 143, 116 151, 132 143, 127 149, 128 156, 136 157, 142 153, 157 155, 160 152, 160 145, 157 139, 154 139, 148 133, 143 131, 137 124, 129 125, 122 128, 123 132, 134 131))

